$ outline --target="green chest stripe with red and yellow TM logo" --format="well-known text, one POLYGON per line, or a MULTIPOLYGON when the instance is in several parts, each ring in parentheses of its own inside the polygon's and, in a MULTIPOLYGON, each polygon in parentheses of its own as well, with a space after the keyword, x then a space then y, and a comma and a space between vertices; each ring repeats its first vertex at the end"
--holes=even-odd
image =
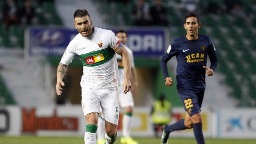
POLYGON ((104 48, 103 50, 96 50, 87 54, 78 55, 83 66, 99 66, 111 60, 115 54, 115 51, 110 47, 104 48))

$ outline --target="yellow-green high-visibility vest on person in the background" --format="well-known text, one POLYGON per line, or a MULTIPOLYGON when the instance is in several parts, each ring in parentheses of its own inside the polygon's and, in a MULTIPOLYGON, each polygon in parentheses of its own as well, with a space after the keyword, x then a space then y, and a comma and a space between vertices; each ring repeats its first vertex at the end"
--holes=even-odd
POLYGON ((164 106, 161 101, 154 102, 154 112, 152 114, 152 121, 154 124, 168 124, 171 120, 170 117, 171 104, 167 100, 164 100, 164 106))

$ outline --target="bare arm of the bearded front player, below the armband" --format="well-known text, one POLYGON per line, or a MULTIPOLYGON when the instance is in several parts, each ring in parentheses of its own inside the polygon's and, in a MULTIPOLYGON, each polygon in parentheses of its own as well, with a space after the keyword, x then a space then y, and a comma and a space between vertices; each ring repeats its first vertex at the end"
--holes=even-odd
POLYGON ((122 46, 119 50, 114 49, 113 50, 116 51, 117 54, 122 56, 122 62, 124 65, 124 83, 123 83, 123 87, 124 87, 124 94, 126 94, 127 92, 130 91, 131 89, 131 64, 130 64, 130 57, 129 54, 126 50, 126 48, 124 48, 124 46, 122 46))

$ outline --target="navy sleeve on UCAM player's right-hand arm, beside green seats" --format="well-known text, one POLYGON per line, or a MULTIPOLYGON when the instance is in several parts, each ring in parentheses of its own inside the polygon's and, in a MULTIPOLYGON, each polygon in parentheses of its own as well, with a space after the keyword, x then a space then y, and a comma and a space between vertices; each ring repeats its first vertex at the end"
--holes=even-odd
POLYGON ((217 59, 217 56, 216 56, 216 48, 212 42, 212 40, 209 38, 209 41, 210 41, 210 45, 209 45, 209 50, 208 50, 208 56, 210 58, 210 61, 211 61, 211 66, 210 68, 215 71, 215 69, 217 68, 218 66, 218 59, 217 59))

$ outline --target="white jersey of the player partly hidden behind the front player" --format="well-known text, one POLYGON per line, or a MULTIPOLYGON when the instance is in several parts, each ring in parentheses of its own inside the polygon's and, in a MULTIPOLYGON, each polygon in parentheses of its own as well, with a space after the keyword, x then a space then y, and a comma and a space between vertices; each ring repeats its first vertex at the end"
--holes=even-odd
MULTIPOLYGON (((124 45, 124 47, 126 48, 126 50, 128 51, 128 54, 130 56, 131 68, 134 68, 135 65, 134 65, 134 57, 133 57, 132 50, 125 45, 124 45)), ((120 81, 122 83, 124 81, 124 66, 122 63, 122 57, 120 55, 116 54, 116 59, 117 59, 117 63, 118 63, 118 71, 119 71, 120 81)))

